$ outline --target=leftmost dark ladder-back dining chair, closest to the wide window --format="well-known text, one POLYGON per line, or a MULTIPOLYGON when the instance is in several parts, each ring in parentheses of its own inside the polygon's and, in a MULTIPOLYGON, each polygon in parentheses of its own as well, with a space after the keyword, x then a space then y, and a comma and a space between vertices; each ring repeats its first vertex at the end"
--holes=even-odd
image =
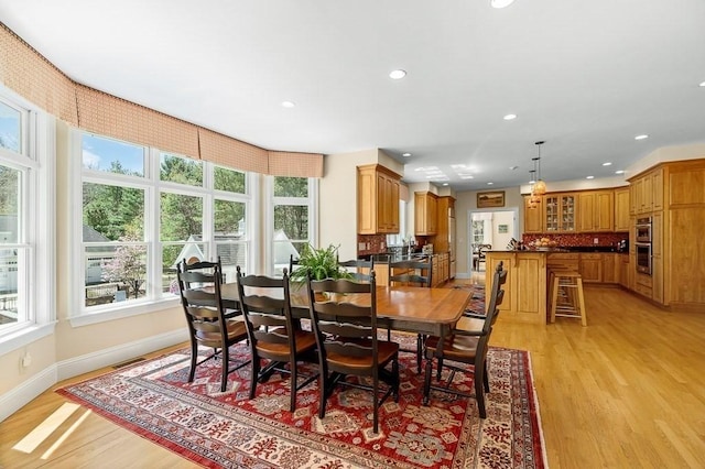
POLYGON ((230 346, 247 339, 241 320, 232 319, 237 310, 227 309, 220 294, 223 274, 218 262, 183 262, 176 273, 182 306, 188 325, 191 369, 188 382, 194 381, 196 367, 203 362, 223 359, 220 391, 225 392, 228 374, 245 367, 249 360, 230 368, 230 346), (210 272, 207 272, 210 271, 210 272), (198 361, 198 347, 213 348, 213 353, 198 361))

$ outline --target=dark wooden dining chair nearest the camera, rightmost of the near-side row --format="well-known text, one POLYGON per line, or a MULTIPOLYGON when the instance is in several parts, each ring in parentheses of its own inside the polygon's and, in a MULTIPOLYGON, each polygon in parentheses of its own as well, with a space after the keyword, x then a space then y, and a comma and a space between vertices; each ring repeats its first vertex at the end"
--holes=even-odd
POLYGON ((307 286, 321 369, 318 417, 325 416, 326 402, 337 384, 365 389, 372 393, 372 430, 378 433, 379 407, 390 395, 399 402, 399 345, 377 337, 375 272, 369 283, 308 277, 307 286), (367 295, 369 301, 346 302, 350 294, 367 295), (371 384, 347 380, 348 375, 371 378, 371 384), (386 385, 380 386, 380 381, 386 385))

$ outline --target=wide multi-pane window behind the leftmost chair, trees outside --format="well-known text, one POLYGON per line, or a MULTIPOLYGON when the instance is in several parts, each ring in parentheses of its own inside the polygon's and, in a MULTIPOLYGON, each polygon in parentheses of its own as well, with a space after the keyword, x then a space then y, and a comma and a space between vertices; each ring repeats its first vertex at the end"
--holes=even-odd
MULTIPOLYGON (((177 264, 220 257, 247 269, 248 175, 77 132, 83 153, 84 313, 174 298, 177 264)), ((149 309, 149 308, 148 308, 149 309)))

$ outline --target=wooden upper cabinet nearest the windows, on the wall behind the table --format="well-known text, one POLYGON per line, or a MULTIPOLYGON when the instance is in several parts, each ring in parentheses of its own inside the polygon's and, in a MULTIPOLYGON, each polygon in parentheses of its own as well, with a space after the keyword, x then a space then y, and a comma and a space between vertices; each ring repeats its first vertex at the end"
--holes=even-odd
POLYGON ((401 176, 379 164, 357 167, 357 232, 399 232, 401 176))

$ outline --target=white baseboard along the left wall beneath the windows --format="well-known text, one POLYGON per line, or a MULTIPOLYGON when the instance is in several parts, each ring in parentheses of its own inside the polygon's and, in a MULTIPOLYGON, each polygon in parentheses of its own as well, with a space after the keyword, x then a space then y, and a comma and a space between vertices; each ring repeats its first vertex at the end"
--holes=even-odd
POLYGON ((183 328, 54 363, 34 374, 19 386, 0 395, 0 422, 8 418, 34 397, 62 380, 120 363, 121 361, 127 361, 141 355, 175 346, 187 340, 188 331, 186 328, 183 328))

